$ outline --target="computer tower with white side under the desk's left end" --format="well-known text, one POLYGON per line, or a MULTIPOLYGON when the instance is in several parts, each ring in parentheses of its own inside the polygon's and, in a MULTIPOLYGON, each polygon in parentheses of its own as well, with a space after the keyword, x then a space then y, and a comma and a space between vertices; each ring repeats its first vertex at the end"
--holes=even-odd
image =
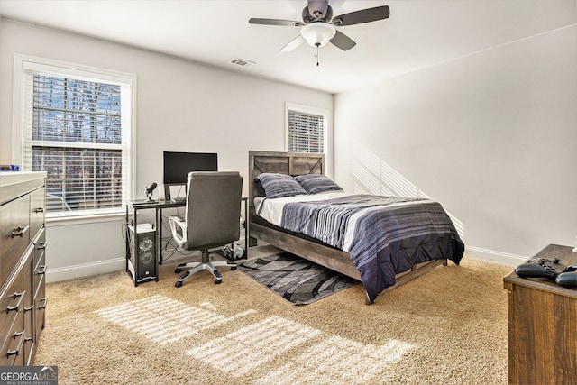
POLYGON ((128 270, 137 286, 147 280, 158 281, 158 263, 156 257, 156 231, 151 224, 128 226, 130 259, 128 270))

